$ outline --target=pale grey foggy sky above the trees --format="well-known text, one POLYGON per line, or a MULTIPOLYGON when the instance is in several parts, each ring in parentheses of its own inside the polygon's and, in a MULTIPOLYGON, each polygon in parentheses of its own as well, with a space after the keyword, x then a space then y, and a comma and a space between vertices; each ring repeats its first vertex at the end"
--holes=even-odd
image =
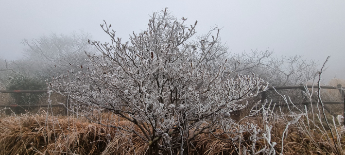
POLYGON ((118 37, 145 29, 154 11, 198 20, 198 34, 214 25, 230 52, 274 50, 304 55, 322 64, 325 78, 345 79, 345 0, 0 0, 0 57, 22 56, 21 40, 84 30, 109 41, 100 27, 112 23, 118 37), (326 75, 327 74, 327 75, 326 75))

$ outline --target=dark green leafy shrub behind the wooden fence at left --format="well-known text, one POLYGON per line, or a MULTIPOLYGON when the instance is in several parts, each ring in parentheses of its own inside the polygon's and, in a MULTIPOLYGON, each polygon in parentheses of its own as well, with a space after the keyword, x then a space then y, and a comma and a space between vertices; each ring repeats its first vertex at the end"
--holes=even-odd
MULTIPOLYGON (((15 74, 7 90, 42 90, 46 84, 37 78, 31 78, 22 74, 15 74)), ((11 97, 19 105, 36 104, 43 93, 11 93, 11 97)))

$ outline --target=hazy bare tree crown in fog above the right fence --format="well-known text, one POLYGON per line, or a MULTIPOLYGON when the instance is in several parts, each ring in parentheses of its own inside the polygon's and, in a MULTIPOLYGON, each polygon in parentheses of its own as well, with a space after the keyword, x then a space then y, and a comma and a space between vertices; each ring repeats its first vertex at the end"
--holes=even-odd
POLYGON ((272 86, 295 86, 315 78, 317 62, 300 55, 277 58, 273 54, 269 50, 232 54, 229 63, 236 73, 256 73, 272 86))

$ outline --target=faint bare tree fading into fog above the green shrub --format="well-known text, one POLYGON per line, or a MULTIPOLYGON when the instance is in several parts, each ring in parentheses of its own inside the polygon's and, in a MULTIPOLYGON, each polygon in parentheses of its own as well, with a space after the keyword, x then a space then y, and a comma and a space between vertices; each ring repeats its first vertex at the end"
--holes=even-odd
POLYGON ((71 69, 73 64, 85 64, 88 60, 85 51, 94 52, 87 43, 90 38, 90 34, 80 31, 69 35, 52 33, 37 39, 23 39, 25 58, 17 60, 14 68, 23 74, 46 79, 51 70, 62 72, 71 69))

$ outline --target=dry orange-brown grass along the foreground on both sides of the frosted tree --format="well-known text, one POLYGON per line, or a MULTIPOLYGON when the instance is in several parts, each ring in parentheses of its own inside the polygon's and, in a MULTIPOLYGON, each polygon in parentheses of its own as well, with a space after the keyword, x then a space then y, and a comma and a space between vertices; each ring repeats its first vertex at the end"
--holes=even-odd
MULTIPOLYGON (((259 117, 243 122, 260 124, 259 117)), ((120 122, 122 125, 128 123, 120 122)), ((262 123, 261 123, 262 124, 262 123)), ((276 141, 276 153, 280 152, 282 131, 286 122, 272 122, 272 141, 276 141)), ((262 128, 262 126, 259 126, 262 128)), ((220 140, 209 134, 200 135, 189 143, 190 155, 239 155, 242 148, 252 145, 250 133, 241 133, 242 143, 220 140)), ((344 136, 341 136, 344 147, 344 136)), ((256 143, 257 150, 263 148, 256 143)), ((0 155, 144 155, 148 143, 133 134, 117 132, 85 119, 76 117, 47 116, 44 111, 21 116, 2 116, 0 120, 0 155)), ((306 134, 297 125, 292 125, 284 139, 284 155, 327 155, 332 147, 325 135, 313 131, 306 134)))

